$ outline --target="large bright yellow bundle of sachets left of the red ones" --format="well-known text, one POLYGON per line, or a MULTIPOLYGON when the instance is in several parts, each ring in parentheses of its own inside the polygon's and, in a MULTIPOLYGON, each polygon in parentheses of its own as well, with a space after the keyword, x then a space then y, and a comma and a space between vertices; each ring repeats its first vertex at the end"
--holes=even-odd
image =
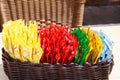
POLYGON ((8 54, 21 61, 39 63, 43 50, 38 37, 36 22, 25 24, 24 20, 3 24, 2 39, 8 54))

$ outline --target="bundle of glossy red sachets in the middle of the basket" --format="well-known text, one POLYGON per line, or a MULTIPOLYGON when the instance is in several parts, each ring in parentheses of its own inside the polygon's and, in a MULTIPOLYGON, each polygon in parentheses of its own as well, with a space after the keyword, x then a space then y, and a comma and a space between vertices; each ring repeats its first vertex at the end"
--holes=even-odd
POLYGON ((44 53, 42 63, 69 64, 76 56, 77 38, 67 26, 51 24, 40 29, 41 46, 44 53))

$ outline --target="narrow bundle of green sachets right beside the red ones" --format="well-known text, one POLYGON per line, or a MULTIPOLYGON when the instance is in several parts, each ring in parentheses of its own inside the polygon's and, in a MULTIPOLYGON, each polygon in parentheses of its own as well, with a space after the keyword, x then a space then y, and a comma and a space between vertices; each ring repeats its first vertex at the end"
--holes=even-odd
POLYGON ((74 29, 72 33, 77 37, 79 42, 74 62, 83 65, 90 50, 88 47, 89 38, 87 37, 86 32, 82 31, 80 27, 74 29))

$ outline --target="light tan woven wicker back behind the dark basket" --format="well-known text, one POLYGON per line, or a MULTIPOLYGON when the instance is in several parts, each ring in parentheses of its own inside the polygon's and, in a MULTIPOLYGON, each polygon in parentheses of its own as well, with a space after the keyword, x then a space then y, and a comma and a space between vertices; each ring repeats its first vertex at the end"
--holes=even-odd
POLYGON ((2 19, 3 22, 25 19, 75 27, 82 25, 84 4, 85 0, 1 0, 2 19))

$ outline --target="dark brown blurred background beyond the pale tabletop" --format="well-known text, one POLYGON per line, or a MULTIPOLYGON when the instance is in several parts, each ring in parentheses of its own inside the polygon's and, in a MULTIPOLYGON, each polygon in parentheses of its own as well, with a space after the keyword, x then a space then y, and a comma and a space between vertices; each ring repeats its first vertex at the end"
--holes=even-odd
MULTIPOLYGON (((86 0, 83 25, 120 23, 120 0, 86 0)), ((2 30, 0 10, 0 31, 2 30)))

